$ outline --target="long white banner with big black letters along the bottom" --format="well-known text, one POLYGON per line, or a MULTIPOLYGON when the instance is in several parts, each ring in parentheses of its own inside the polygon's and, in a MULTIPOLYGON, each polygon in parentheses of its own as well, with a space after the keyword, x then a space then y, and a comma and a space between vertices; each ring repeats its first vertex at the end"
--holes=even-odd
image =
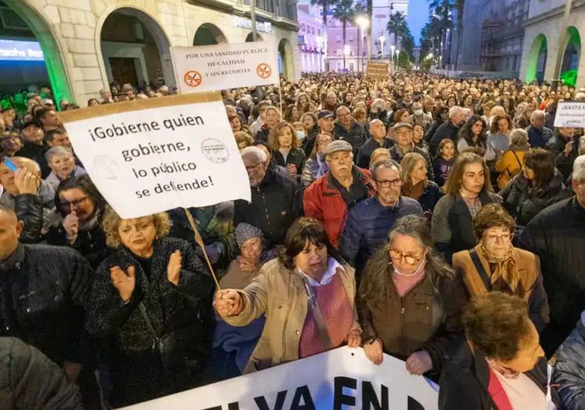
POLYGON ((143 402, 136 410, 436 410, 438 392, 404 361, 377 366, 363 349, 340 347, 292 363, 143 402))

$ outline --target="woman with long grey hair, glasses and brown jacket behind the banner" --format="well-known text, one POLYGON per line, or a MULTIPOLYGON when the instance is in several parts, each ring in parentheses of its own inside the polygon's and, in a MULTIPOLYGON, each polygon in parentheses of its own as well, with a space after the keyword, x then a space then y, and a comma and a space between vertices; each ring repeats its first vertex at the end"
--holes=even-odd
POLYGON ((357 292, 363 349, 406 360, 409 373, 438 377, 445 352, 462 335, 463 284, 432 244, 422 217, 400 218, 367 262, 357 292))

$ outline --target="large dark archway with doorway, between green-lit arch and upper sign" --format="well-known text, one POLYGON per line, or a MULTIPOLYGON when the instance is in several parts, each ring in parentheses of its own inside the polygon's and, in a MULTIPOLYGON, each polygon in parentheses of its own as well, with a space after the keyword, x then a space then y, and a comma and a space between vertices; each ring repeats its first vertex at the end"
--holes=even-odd
POLYGON ((109 83, 174 87, 168 37, 145 12, 130 7, 111 12, 100 41, 109 83))

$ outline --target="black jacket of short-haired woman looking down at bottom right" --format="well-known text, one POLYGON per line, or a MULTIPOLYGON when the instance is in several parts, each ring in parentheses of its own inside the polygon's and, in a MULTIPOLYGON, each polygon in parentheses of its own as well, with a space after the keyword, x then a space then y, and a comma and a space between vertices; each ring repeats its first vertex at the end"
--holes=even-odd
MULTIPOLYGON (((524 373, 546 394, 548 377, 546 358, 543 357, 535 367, 524 373)), ((486 356, 481 351, 472 353, 469 344, 461 341, 445 357, 445 367, 439 385, 439 410, 493 410, 497 409, 488 393, 490 368, 486 356)), ((554 387, 550 388, 552 401, 561 409, 560 398, 554 387)))

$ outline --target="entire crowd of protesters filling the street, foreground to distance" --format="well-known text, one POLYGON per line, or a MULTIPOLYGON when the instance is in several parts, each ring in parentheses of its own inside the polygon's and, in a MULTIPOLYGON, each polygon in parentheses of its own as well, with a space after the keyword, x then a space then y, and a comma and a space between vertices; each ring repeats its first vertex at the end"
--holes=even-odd
MULTIPOLYGON (((88 105, 169 94, 150 91, 88 105)), ((585 406, 585 140, 554 127, 585 93, 417 73, 223 91, 252 201, 135 219, 27 97, 0 124, 0 391, 20 408, 129 405, 345 344, 439 382, 441 409, 585 406)))

